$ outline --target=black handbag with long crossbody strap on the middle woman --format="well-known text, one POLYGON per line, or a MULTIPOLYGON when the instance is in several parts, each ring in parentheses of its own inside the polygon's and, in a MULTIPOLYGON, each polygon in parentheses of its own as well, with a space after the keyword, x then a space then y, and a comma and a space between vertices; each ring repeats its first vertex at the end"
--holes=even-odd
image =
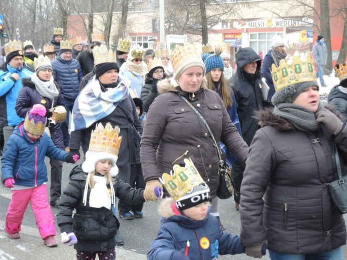
POLYGON ((212 140, 214 142, 214 146, 217 149, 217 153, 218 153, 218 158, 219 158, 219 167, 218 167, 218 173, 219 173, 219 185, 218 185, 218 189, 217 189, 217 196, 220 199, 227 199, 230 198, 233 194, 234 194, 234 188, 232 185, 232 179, 229 175, 229 173, 226 171, 225 166, 224 166, 224 160, 222 159, 222 155, 221 152, 219 150, 219 146, 216 142, 216 139, 213 136, 213 133, 210 129, 210 126, 208 125, 207 121, 205 120, 205 118, 199 113, 198 110, 196 110, 196 108, 182 95, 180 95, 182 97, 182 99, 184 101, 186 101, 186 103, 189 105, 190 108, 193 109, 193 111, 199 116, 199 118, 204 122, 204 124, 206 125, 207 130, 209 131, 212 140))

